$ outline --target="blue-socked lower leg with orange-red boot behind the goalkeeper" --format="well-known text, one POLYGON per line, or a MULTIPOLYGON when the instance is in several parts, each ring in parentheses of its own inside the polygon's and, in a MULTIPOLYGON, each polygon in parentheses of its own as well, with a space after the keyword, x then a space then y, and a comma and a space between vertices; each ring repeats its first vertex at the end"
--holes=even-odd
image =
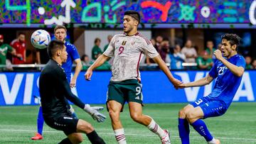
POLYGON ((31 138, 31 140, 41 140, 43 139, 43 111, 42 106, 39 107, 38 118, 37 118, 37 133, 31 138))

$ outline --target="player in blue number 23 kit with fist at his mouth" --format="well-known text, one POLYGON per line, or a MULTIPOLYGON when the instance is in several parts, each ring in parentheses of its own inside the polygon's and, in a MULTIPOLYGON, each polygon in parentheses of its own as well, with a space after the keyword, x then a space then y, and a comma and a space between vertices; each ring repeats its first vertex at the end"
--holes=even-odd
POLYGON ((195 82, 180 84, 178 88, 199 87, 216 79, 213 92, 183 107, 178 113, 178 131, 183 144, 189 143, 189 125, 210 144, 220 143, 213 138, 206 123, 201 119, 221 116, 227 111, 240 85, 245 71, 245 59, 238 55, 240 37, 235 34, 222 35, 221 51, 215 50, 217 61, 209 74, 195 82))

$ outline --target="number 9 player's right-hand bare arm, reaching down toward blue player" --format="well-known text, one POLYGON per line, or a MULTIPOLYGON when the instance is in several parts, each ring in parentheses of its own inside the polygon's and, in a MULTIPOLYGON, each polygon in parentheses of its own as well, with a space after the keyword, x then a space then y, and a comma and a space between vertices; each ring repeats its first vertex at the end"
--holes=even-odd
POLYGON ((168 67, 166 66, 165 62, 161 59, 160 55, 154 57, 153 60, 157 63, 157 65, 159 65, 160 69, 166 74, 171 83, 174 84, 174 87, 177 87, 179 84, 182 84, 181 81, 174 78, 174 76, 171 74, 168 67))

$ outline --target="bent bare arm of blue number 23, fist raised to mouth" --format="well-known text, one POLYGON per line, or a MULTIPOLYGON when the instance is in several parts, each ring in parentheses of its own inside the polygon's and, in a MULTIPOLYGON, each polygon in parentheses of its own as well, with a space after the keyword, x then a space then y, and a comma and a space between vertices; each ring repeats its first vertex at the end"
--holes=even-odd
POLYGON ((233 65, 232 63, 228 62, 228 60, 225 60, 225 58, 222 56, 222 53, 220 50, 215 50, 215 52, 213 52, 213 55, 215 55, 215 57, 218 60, 220 60, 220 62, 223 62, 223 64, 226 67, 228 67, 230 72, 232 72, 236 76, 241 77, 242 74, 245 72, 245 69, 243 67, 238 67, 238 66, 233 65))

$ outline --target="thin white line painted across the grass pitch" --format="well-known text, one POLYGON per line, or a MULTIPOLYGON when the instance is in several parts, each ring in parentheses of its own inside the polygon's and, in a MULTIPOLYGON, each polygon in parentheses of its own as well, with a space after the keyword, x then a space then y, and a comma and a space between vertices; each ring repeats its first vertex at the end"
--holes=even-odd
MULTIPOLYGON (((31 131, 31 130, 15 130, 15 129, 0 129, 1 131, 12 131, 12 132, 35 132, 35 131, 31 131)), ((62 131, 43 131, 43 133, 63 133, 62 131)), ((102 133, 102 132, 97 132, 99 134, 103 134, 103 135, 114 135, 114 133, 102 133)), ((150 134, 142 134, 142 133, 125 133, 125 135, 133 135, 133 136, 154 136, 154 135, 150 135, 150 134)), ((171 138, 177 138, 179 139, 178 135, 171 135, 171 138)), ((201 136, 192 136, 192 138, 195 139, 201 139, 201 136)), ((252 141, 256 141, 256 138, 225 138, 225 137, 218 137, 218 139, 223 139, 223 140, 252 140, 252 141)))

